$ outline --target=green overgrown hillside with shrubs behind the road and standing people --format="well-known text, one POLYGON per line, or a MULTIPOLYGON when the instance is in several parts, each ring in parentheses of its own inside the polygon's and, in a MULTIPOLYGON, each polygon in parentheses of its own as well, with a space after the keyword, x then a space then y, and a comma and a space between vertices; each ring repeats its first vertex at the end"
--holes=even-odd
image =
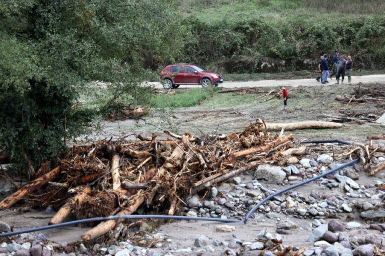
POLYGON ((355 67, 385 66, 382 0, 179 0, 180 61, 227 73, 314 69, 339 50, 355 67))

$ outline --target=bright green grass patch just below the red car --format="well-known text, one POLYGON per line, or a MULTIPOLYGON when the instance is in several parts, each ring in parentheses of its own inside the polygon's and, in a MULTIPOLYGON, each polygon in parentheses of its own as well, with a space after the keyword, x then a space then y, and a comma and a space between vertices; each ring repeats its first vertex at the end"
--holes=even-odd
POLYGON ((215 86, 206 88, 193 88, 185 91, 178 91, 174 94, 157 94, 151 101, 152 107, 189 107, 213 96, 218 90, 215 86))

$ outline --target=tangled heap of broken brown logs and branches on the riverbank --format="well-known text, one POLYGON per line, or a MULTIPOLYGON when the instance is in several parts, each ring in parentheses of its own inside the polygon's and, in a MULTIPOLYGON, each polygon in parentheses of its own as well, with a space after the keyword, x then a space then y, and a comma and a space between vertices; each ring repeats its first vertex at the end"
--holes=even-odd
MULTIPOLYGON (((21 199, 34 207, 52 206, 58 212, 50 224, 62 222, 71 212, 78 219, 138 210, 173 215, 185 205, 188 194, 204 194, 262 163, 282 164, 306 151, 292 134, 270 135, 263 121, 250 123, 242 132, 204 139, 190 133, 165 133, 165 139, 153 134, 74 146, 55 167, 45 163, 33 182, 0 202, 0 209, 21 199)), ((91 223, 97 225, 82 239, 101 236, 122 221, 91 223)))

